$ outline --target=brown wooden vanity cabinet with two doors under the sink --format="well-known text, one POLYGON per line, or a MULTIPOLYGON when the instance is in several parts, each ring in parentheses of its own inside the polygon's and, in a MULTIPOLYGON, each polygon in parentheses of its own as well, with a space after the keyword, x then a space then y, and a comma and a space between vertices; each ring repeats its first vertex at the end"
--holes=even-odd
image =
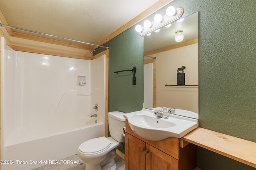
POLYGON ((196 146, 180 147, 180 139, 149 141, 136 135, 126 120, 126 170, 194 170, 196 146))

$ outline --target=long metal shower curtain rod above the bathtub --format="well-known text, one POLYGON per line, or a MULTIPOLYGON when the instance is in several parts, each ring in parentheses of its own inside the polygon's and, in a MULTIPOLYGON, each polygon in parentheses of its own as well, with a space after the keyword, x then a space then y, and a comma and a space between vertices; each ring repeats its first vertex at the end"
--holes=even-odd
POLYGON ((77 41, 77 40, 74 40, 74 39, 59 37, 59 36, 56 36, 56 35, 50 35, 50 34, 46 34, 46 33, 40 33, 40 32, 37 32, 37 31, 32 31, 32 30, 29 30, 29 29, 23 29, 23 28, 19 28, 19 27, 13 27, 13 26, 10 26, 10 25, 4 25, 2 23, 0 23, 0 27, 7 27, 7 28, 12 28, 12 29, 18 29, 18 30, 21 30, 21 31, 37 33, 37 34, 41 34, 41 35, 46 35, 46 36, 50 36, 50 37, 55 37, 55 38, 59 38, 59 39, 65 39, 65 40, 68 40, 68 41, 74 41, 74 42, 77 42, 77 43, 83 43, 83 44, 88 44, 88 45, 93 45, 93 46, 96 46, 96 47, 102 47, 102 48, 108 49, 108 47, 104 47, 104 46, 101 46, 101 45, 85 43, 85 42, 77 41))

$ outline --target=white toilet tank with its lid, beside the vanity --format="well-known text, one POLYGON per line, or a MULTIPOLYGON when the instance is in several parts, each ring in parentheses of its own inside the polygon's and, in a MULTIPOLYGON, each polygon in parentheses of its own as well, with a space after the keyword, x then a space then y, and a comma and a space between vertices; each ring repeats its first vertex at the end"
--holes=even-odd
POLYGON ((125 138, 122 135, 123 127, 125 127, 124 113, 120 111, 112 111, 108 113, 108 127, 110 135, 118 142, 124 142, 125 138))

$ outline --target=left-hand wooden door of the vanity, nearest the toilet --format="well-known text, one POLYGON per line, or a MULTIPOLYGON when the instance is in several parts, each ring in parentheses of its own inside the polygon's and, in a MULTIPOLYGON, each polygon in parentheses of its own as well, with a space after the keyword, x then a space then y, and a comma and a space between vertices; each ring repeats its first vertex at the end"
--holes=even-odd
POLYGON ((146 169, 146 143, 133 137, 129 133, 125 134, 125 169, 145 170, 146 169))

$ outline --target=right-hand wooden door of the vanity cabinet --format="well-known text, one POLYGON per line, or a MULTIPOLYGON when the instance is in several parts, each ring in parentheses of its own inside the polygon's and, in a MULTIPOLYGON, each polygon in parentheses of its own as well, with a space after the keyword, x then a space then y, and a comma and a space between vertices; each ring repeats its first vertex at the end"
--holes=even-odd
POLYGON ((179 161, 146 144, 146 170, 179 170, 179 161))

